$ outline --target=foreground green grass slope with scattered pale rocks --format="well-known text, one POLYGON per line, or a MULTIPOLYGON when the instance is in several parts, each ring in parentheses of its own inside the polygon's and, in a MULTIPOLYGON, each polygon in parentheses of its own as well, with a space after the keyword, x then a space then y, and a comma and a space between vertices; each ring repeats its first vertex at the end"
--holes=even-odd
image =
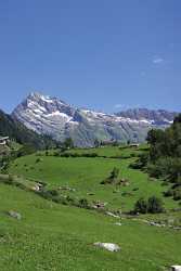
POLYGON ((56 205, 0 184, 0 270, 161 271, 181 261, 180 232, 56 205), (22 215, 17 221, 5 211, 22 215), (116 243, 118 253, 92 245, 116 243))

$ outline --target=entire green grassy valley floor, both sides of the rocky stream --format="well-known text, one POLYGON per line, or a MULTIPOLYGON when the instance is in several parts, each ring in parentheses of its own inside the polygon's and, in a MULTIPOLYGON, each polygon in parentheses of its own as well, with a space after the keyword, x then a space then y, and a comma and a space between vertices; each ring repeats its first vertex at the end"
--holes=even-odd
MULTIPOLYGON (((52 151, 50 156, 41 153, 41 156, 34 154, 17 158, 11 164, 9 172, 20 176, 16 180, 27 188, 35 181, 47 182, 48 189, 68 185, 76 191, 62 193, 76 198, 86 197, 89 202, 107 202, 109 209, 130 210, 140 196, 163 197, 163 191, 168 189, 161 185, 161 181, 150 180, 146 173, 129 168, 137 158, 133 156, 140 152, 138 150, 104 147, 68 152, 95 151, 106 158, 55 157, 52 151), (115 166, 120 169, 119 177, 129 179, 130 185, 116 188, 100 184, 115 166), (134 191, 135 188, 139 190, 134 191)), ((163 199, 167 210, 179 206, 171 198, 163 199)), ((1 181, 0 202, 2 271, 166 271, 171 264, 181 264, 180 231, 151 227, 142 220, 124 216, 112 218, 94 210, 55 204, 1 181), (10 217, 10 210, 20 212, 22 219, 10 217), (94 247, 94 242, 115 243, 121 250, 106 251, 94 247)), ((140 216, 140 219, 154 221, 167 218, 181 220, 180 212, 171 211, 140 216)))

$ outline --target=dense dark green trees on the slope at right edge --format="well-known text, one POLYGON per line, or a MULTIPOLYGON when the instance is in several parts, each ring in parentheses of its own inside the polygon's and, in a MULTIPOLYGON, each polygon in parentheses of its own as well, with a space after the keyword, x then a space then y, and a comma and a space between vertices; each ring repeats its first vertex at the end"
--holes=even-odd
POLYGON ((142 167, 166 185, 171 183, 165 196, 181 201, 181 114, 166 130, 151 130, 147 142, 150 151, 141 156, 142 167))

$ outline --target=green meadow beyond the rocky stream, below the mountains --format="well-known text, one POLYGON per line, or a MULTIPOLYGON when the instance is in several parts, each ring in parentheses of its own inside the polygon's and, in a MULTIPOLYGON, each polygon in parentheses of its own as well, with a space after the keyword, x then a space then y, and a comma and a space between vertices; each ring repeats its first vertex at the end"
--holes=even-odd
MULTIPOLYGON (((83 152, 88 151, 89 153, 94 152, 92 149, 83 152)), ((74 152, 80 152, 80 150, 74 150, 74 152)), ((96 149, 96 152, 104 156, 116 156, 120 152, 122 156, 126 156, 128 153, 134 153, 135 155, 139 150, 102 147, 96 149)), ((129 165, 135 159, 134 157, 114 159, 41 156, 42 160, 36 163, 37 158, 36 155, 29 155, 16 159, 10 168, 10 172, 41 180, 47 182, 50 188, 68 185, 76 189, 76 192, 66 192, 66 194, 70 194, 73 197, 86 197, 89 201, 100 199, 108 203, 108 208, 128 211, 133 208, 139 197, 152 195, 163 197, 163 192, 168 190, 168 186, 163 186, 160 181, 150 180, 146 173, 130 169, 129 165), (102 180, 108 177, 114 167, 120 169, 119 178, 127 178, 130 185, 124 188, 100 184, 102 180), (135 189, 138 190, 134 191, 135 189), (89 193, 94 195, 89 195, 89 193)), ((171 198, 163 197, 163 199, 166 208, 178 206, 178 202, 173 202, 171 198)))

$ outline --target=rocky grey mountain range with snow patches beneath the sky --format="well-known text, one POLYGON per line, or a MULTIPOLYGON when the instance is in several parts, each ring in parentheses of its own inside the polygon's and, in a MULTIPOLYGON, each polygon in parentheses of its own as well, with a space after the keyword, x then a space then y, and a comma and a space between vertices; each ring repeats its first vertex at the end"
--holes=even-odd
POLYGON ((169 126, 174 113, 132 109, 111 115, 34 92, 13 111, 12 117, 39 134, 60 141, 72 137, 78 146, 92 146, 95 139, 144 141, 152 127, 169 126))

